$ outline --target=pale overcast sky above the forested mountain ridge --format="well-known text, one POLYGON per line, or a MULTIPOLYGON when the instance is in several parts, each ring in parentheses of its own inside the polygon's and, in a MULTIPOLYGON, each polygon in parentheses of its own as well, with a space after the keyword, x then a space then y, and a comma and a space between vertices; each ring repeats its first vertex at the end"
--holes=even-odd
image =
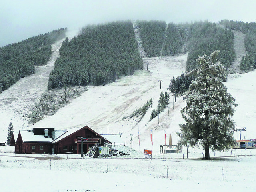
POLYGON ((256 0, 0 0, 0 47, 116 20, 256 22, 256 0))

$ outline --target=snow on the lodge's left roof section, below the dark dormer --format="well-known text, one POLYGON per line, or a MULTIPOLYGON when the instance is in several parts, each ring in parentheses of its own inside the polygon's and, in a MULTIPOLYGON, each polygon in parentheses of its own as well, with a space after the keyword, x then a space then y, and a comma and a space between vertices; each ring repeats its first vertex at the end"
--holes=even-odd
POLYGON ((52 142, 52 138, 44 135, 34 135, 32 130, 20 130, 23 142, 52 142))

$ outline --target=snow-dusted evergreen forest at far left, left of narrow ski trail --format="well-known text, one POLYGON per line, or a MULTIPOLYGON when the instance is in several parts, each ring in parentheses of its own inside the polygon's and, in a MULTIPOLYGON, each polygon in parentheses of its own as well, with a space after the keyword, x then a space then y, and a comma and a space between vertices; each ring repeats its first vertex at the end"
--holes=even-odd
POLYGON ((30 37, 0 48, 0 93, 20 78, 34 74, 35 66, 45 65, 51 54, 51 44, 65 37, 67 28, 30 37))

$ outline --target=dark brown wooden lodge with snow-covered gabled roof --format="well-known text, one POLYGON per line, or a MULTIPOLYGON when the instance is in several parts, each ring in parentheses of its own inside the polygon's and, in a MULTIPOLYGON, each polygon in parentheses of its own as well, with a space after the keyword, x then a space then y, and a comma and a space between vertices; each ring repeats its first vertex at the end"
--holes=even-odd
POLYGON ((16 139, 15 134, 12 134, 10 144, 15 146, 15 153, 65 154, 70 152, 81 154, 81 138, 86 138, 83 140, 84 154, 96 143, 112 144, 88 126, 67 130, 55 130, 54 128, 20 130, 16 139))

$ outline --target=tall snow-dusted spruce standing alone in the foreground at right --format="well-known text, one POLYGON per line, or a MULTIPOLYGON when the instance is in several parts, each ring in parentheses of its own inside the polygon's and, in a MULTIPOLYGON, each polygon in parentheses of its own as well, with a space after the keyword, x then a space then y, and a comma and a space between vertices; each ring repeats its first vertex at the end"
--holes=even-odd
POLYGON ((192 81, 186 92, 186 107, 181 114, 185 124, 180 124, 181 144, 187 147, 203 146, 205 156, 210 158, 209 149, 225 151, 234 144, 235 99, 227 92, 222 79, 225 79, 224 66, 217 60, 219 51, 210 57, 198 57, 200 66, 194 70, 197 78, 192 81))

